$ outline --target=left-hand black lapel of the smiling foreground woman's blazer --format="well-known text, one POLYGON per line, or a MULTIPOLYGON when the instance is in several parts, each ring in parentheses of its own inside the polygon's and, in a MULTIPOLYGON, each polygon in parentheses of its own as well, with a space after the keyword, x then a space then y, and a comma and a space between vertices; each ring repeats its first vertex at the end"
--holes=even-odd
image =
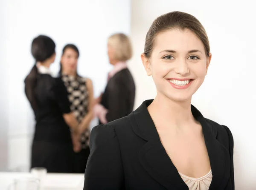
POLYGON ((129 115, 135 133, 147 142, 139 152, 139 160, 147 173, 168 190, 189 190, 181 179, 164 149, 154 126, 147 106, 152 102, 143 102, 135 112, 129 115))

